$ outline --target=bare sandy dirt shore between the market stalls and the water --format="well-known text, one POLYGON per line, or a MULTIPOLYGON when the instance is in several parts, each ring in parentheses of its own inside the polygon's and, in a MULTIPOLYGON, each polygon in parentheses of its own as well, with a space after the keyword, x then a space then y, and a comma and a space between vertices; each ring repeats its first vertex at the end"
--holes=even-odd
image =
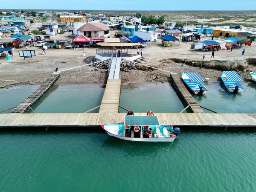
MULTIPOLYGON (((207 37, 206 39, 209 39, 207 37)), ((190 50, 192 43, 182 42, 178 46, 177 42, 172 47, 163 47, 160 44, 161 40, 157 42, 148 42, 147 47, 143 48, 143 56, 150 66, 154 66, 167 71, 182 73, 183 70, 190 72, 198 72, 201 76, 208 77, 210 81, 217 81, 221 76, 221 70, 215 69, 199 69, 199 67, 191 67, 187 65, 191 61, 197 63, 203 61, 233 61, 245 62, 247 59, 256 58, 256 43, 253 42, 251 47, 242 47, 242 49, 221 50, 215 52, 215 58, 211 58, 212 52, 199 52, 190 50), (245 49, 245 55, 241 52, 245 49), (189 61, 186 65, 183 62, 177 63, 173 59, 189 61)), ((6 58, 0 58, 0 87, 9 87, 15 84, 41 84, 47 77, 54 72, 55 68, 65 70, 72 67, 77 67, 86 64, 90 59, 94 58, 96 54, 95 48, 78 48, 78 49, 47 49, 46 54, 41 53, 40 47, 28 47, 22 49, 15 49, 13 51, 13 58, 11 61, 6 61, 6 58), (18 56, 18 50, 35 50, 36 57, 26 58, 25 60, 18 56), (85 57, 82 53, 85 53, 85 57)), ((245 62, 246 63, 246 62, 245 62)), ((248 71, 256 71, 256 64, 251 62, 239 74, 247 79, 250 79, 248 71)), ((122 72, 122 84, 136 84, 141 82, 154 81, 169 81, 170 74, 159 70, 131 70, 130 72, 122 72)), ((88 84, 88 83, 104 83, 107 74, 94 70, 94 67, 87 66, 74 70, 69 70, 61 73, 61 78, 57 81, 58 84, 88 84)))

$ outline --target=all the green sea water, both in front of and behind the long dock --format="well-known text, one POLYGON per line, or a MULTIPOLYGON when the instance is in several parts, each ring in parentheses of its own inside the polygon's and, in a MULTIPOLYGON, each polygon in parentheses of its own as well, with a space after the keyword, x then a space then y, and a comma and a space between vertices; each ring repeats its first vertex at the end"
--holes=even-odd
MULTIPOLYGON (((37 87, 0 90, 0 110, 37 87)), ((255 113, 255 84, 244 83, 236 96, 219 82, 208 87, 195 96, 200 105, 255 113)), ((60 85, 33 108, 83 112, 99 105, 103 92, 101 85, 60 85)), ((120 105, 137 112, 185 107, 169 83, 122 87, 120 105)), ((256 191, 256 131, 181 131, 173 143, 128 142, 101 130, 0 131, 0 191, 256 191)))

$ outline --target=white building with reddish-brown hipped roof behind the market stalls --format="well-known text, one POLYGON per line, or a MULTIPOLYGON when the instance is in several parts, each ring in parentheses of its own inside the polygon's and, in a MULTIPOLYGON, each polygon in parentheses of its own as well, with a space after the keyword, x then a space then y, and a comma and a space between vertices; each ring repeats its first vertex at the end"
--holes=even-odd
POLYGON ((109 37, 110 28, 99 22, 86 23, 83 26, 76 29, 74 35, 84 35, 87 37, 109 37))

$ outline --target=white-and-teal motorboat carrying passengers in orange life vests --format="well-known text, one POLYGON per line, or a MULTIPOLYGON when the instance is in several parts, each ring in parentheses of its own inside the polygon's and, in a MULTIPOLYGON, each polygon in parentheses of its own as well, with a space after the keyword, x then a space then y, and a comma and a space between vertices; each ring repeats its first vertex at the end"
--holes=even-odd
POLYGON ((180 128, 160 125, 157 116, 126 115, 124 123, 105 124, 102 128, 109 136, 128 141, 173 142, 180 128))

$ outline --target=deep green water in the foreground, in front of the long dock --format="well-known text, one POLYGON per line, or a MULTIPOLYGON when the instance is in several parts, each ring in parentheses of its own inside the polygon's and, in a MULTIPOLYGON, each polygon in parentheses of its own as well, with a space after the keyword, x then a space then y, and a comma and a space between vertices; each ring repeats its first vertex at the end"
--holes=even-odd
POLYGON ((2 131, 0 190, 255 191, 255 137, 193 130, 134 143, 103 131, 2 131))

